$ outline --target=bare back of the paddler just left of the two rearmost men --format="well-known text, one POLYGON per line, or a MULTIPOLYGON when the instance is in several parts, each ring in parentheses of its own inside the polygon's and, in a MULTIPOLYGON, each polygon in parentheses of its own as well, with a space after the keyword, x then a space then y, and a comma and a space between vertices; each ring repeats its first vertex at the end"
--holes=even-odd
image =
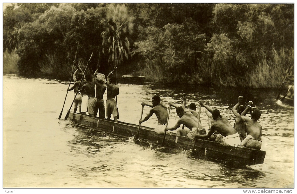
POLYGON ((231 126, 226 116, 221 115, 216 121, 211 124, 211 129, 217 130, 223 136, 233 135, 236 130, 231 126))

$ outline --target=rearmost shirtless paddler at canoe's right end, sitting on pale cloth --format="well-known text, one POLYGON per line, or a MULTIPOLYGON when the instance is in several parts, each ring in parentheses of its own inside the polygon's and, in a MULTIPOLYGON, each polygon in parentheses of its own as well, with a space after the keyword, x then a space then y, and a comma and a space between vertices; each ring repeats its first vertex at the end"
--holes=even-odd
POLYGON ((253 102, 248 102, 247 108, 241 113, 241 119, 245 125, 247 131, 247 137, 241 142, 241 146, 253 149, 261 149, 262 146, 262 126, 258 123, 261 116, 261 112, 255 109, 252 113, 252 117, 244 116, 252 106, 253 102))

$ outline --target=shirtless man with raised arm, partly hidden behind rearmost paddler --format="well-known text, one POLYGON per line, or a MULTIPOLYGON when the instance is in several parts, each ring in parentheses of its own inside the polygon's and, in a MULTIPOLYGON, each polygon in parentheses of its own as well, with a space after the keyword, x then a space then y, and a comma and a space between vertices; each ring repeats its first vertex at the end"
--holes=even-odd
POLYGON ((242 102, 242 96, 239 96, 237 104, 232 108, 232 112, 236 116, 235 123, 234 123, 234 129, 239 134, 240 141, 242 141, 242 140, 244 140, 244 138, 246 138, 244 123, 240 116, 240 114, 244 111, 244 106, 240 105, 241 102, 242 102))

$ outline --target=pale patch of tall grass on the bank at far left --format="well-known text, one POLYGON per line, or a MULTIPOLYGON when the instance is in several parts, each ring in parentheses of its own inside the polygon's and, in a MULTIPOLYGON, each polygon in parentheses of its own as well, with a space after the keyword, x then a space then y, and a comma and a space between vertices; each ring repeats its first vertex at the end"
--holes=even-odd
POLYGON ((8 51, 3 52, 3 75, 6 74, 17 74, 18 73, 18 60, 19 56, 15 51, 9 53, 8 51))

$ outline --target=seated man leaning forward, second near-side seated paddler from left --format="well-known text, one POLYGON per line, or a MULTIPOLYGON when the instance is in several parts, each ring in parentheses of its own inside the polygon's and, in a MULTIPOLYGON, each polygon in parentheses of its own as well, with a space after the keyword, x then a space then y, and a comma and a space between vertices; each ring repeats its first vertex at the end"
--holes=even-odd
POLYGON ((165 127, 165 131, 174 131, 183 124, 188 127, 188 129, 178 130, 177 135, 188 136, 191 140, 193 140, 197 130, 199 134, 206 134, 205 129, 198 129, 198 119, 191 112, 185 112, 184 108, 179 106, 176 108, 176 113, 180 119, 178 119, 177 123, 173 127, 165 127))

